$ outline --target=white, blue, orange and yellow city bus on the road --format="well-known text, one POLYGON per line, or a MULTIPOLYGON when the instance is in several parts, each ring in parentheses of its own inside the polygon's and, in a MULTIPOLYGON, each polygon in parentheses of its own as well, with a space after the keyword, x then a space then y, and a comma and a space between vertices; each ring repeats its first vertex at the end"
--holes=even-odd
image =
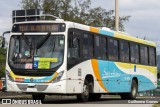
POLYGON ((157 87, 156 44, 109 28, 75 22, 15 22, 6 60, 6 91, 76 95, 79 101, 102 94, 135 99, 157 87))

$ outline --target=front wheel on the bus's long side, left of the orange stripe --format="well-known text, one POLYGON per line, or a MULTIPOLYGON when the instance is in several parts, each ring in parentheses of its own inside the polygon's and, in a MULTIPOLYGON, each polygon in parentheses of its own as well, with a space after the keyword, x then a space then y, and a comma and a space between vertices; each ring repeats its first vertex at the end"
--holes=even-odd
POLYGON ((89 99, 89 83, 87 80, 84 81, 83 92, 77 95, 77 100, 86 102, 89 99))

